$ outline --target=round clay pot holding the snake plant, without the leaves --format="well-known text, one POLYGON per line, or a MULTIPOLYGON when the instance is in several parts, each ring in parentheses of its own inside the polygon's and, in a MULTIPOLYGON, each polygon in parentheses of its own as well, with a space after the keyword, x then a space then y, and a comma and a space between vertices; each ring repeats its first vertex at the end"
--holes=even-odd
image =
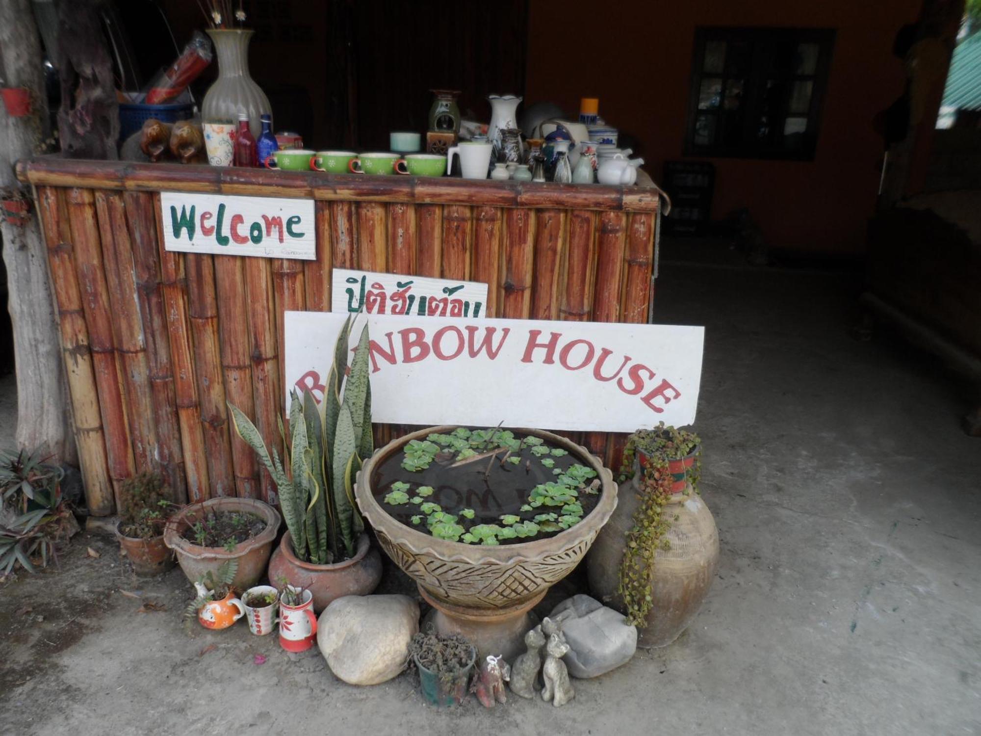
POLYGON ((287 531, 269 563, 269 580, 279 586, 285 578, 289 585, 306 588, 313 594, 313 608, 320 613, 341 596, 368 596, 382 579, 382 556, 371 546, 367 534, 358 538, 354 556, 330 565, 303 562, 293 552, 287 531))

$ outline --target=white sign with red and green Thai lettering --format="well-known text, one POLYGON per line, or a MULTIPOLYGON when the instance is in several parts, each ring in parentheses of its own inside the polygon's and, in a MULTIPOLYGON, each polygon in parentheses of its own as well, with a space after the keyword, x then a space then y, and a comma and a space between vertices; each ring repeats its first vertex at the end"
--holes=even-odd
POLYGON ((425 276, 336 268, 331 311, 478 319, 487 312, 488 285, 425 276))

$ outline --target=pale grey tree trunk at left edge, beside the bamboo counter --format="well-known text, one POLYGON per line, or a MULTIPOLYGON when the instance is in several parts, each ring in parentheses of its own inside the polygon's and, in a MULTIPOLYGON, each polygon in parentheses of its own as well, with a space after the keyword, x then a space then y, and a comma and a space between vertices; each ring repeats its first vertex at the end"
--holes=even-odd
POLYGON ((18 159, 41 146, 48 115, 30 0, 0 2, 0 61, 4 83, 26 87, 31 99, 31 111, 24 117, 10 117, 0 105, 0 199, 6 215, 0 219, 0 236, 14 326, 17 444, 39 448, 55 462, 76 462, 44 240, 29 191, 14 175, 18 159))

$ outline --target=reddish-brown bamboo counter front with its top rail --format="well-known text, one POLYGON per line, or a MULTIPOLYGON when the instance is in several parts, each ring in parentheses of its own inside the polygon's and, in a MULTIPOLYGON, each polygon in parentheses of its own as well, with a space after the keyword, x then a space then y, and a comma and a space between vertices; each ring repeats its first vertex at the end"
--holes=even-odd
MULTIPOLYGON (((174 498, 275 502, 231 402, 283 453, 283 315, 327 311, 331 271, 485 282, 487 315, 645 322, 658 208, 649 186, 331 177, 261 170, 22 162, 55 287, 89 509, 134 473, 174 498), (314 199, 317 259, 164 249, 161 191, 314 199)), ((405 427, 376 426, 376 442, 405 427)), ((570 433, 616 467, 623 436, 570 433)))

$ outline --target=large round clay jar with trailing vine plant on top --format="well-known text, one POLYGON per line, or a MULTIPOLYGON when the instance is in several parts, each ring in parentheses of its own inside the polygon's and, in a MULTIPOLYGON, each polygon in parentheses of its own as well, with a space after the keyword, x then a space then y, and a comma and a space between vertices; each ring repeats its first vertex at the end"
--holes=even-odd
POLYGON ((631 435, 609 524, 590 551, 590 587, 638 627, 638 645, 663 647, 689 625, 715 574, 719 537, 698 495, 701 442, 666 427, 631 435))

